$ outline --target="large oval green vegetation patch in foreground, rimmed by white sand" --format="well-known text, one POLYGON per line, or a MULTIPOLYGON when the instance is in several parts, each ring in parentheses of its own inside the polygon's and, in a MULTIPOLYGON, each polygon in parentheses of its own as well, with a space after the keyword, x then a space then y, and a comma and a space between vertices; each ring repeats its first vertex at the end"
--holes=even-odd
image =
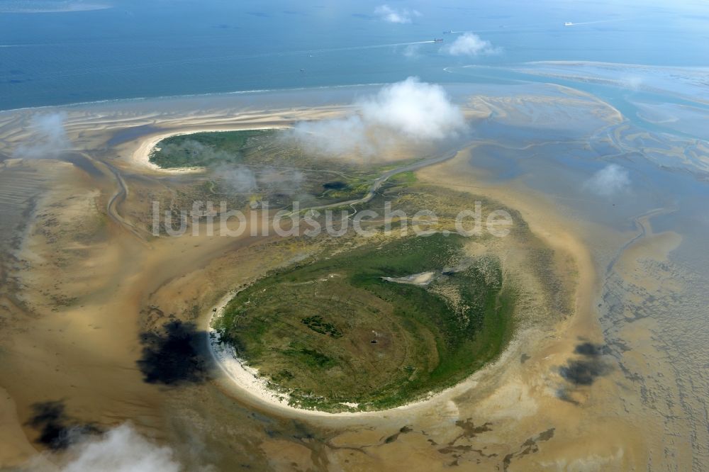
POLYGON ((501 263, 467 257, 463 243, 406 237, 302 262, 238 293, 215 327, 294 405, 407 403, 480 369, 510 337, 515 297, 501 263), (384 279, 428 271, 428 286, 384 279))

